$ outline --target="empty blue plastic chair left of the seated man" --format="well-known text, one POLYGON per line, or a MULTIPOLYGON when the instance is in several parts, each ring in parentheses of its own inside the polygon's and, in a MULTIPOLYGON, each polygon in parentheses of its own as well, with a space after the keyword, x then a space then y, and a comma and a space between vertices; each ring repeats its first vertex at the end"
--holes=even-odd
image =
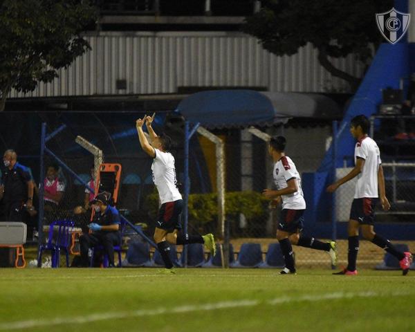
POLYGON ((52 257, 52 267, 59 267, 59 255, 61 250, 66 255, 66 267, 69 267, 69 250, 68 246, 71 244, 71 230, 75 223, 71 220, 57 220, 49 225, 48 241, 39 247, 39 255, 37 261, 42 261, 42 254, 44 250, 50 250, 52 257), (56 239, 53 238, 53 232, 57 230, 56 239))

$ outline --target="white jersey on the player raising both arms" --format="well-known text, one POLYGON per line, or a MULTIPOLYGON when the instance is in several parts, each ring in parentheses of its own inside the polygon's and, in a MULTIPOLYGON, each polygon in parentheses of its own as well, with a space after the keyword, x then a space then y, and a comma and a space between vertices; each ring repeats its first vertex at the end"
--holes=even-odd
POLYGON ((163 152, 158 149, 151 171, 153 172, 153 182, 157 187, 158 195, 162 204, 182 199, 180 192, 176 187, 176 168, 174 167, 174 156, 169 152, 163 152))

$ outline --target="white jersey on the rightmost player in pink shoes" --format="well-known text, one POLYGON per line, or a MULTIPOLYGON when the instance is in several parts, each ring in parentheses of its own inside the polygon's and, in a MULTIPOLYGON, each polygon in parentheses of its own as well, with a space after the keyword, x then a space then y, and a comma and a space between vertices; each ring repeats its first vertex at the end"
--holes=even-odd
POLYGON ((358 175, 355 199, 378 197, 378 169, 382 163, 379 147, 369 136, 356 143, 355 163, 357 158, 365 159, 362 172, 358 175))

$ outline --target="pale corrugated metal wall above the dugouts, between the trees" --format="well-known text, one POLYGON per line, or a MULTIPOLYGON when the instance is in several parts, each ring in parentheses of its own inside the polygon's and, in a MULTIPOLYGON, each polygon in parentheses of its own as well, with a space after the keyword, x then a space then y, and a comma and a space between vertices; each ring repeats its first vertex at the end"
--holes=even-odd
MULTIPOLYGON (((349 91, 347 82, 318 64, 310 45, 291 57, 276 57, 241 33, 100 33, 86 39, 92 50, 59 78, 26 95, 12 91, 10 97, 176 93, 178 86, 349 91), (117 90, 116 80, 127 80, 127 89, 117 90)), ((362 64, 353 57, 334 64, 362 75, 362 64)))

